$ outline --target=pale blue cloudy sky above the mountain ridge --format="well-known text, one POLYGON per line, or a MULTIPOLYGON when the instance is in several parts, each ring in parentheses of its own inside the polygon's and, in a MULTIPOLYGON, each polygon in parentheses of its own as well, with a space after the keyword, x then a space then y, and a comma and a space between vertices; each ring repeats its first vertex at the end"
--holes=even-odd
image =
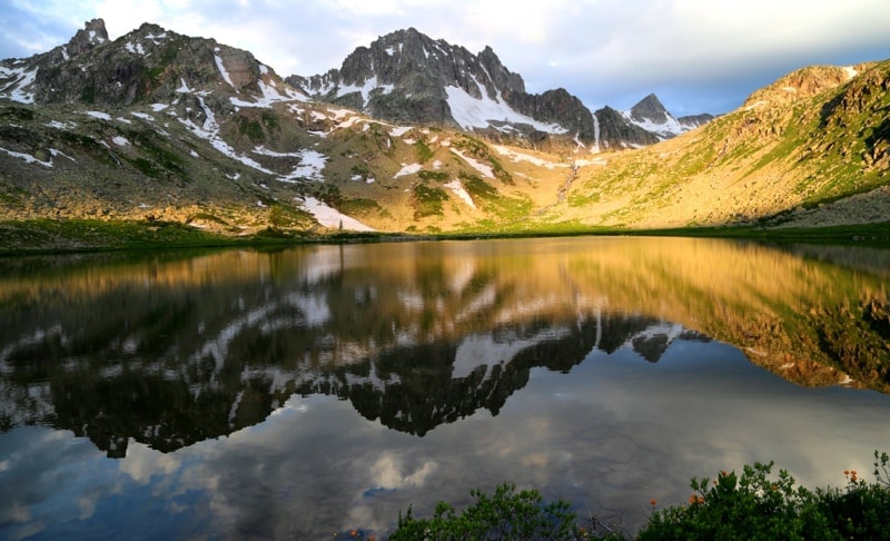
POLYGON ((0 58, 66 43, 102 18, 246 49, 278 75, 339 68, 414 27, 471 52, 491 46, 526 90, 565 88, 592 110, 655 92, 675 116, 721 114, 794 69, 890 58, 887 0, 0 0, 0 58))

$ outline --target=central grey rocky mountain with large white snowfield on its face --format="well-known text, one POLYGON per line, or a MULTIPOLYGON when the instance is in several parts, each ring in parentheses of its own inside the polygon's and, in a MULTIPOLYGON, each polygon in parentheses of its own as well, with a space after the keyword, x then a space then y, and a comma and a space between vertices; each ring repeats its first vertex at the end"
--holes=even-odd
POLYGON ((541 141, 563 135, 592 148, 617 149, 651 145, 661 136, 652 137, 645 124, 634 129, 633 120, 614 117, 610 109, 592 114, 563 88, 528 94, 522 76, 504 67, 491 47, 473 55, 414 28, 358 47, 339 69, 286 80, 314 99, 382 120, 443 125, 498 139, 521 135, 541 141))

